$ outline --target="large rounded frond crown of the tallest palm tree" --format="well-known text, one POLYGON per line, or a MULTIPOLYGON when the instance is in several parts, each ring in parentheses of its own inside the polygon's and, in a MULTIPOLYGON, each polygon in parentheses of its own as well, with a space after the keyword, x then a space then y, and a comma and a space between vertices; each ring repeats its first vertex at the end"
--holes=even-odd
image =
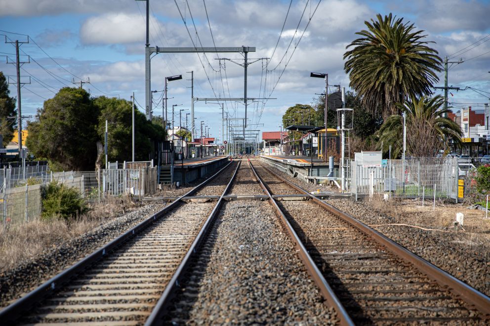
POLYGON ((432 85, 441 71, 438 52, 422 39, 424 31, 415 31, 413 24, 403 23, 390 13, 377 21, 365 21, 367 31, 346 48, 344 71, 349 74, 350 87, 362 96, 363 104, 384 119, 397 113, 396 104, 411 97, 432 95, 432 85))

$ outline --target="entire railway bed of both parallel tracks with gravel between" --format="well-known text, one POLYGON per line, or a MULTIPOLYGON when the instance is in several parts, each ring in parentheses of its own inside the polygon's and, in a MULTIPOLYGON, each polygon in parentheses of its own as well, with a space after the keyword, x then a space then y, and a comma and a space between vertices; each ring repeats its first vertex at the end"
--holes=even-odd
POLYGON ((227 165, 3 309, 0 320, 51 325, 488 322, 489 297, 269 168, 244 163, 227 165), (261 201, 267 198, 271 206, 264 208, 261 201), (223 205, 230 205, 231 213, 223 205), (276 217, 281 224, 275 225, 276 217))

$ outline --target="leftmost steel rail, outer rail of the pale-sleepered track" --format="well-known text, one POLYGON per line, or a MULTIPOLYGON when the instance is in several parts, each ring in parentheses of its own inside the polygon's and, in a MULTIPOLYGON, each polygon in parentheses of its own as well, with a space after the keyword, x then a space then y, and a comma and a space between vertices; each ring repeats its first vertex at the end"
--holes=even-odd
POLYGON ((180 196, 179 198, 177 198, 176 200, 174 200, 173 202, 165 206, 163 209, 153 214, 151 217, 148 217, 144 221, 140 222, 138 225, 133 226, 128 231, 124 232, 122 235, 118 236, 111 242, 107 243, 106 245, 94 251, 92 254, 89 254, 88 256, 78 261, 71 267, 68 267, 67 269, 53 276, 51 279, 44 282, 38 288, 32 290, 31 292, 27 293, 25 296, 19 298, 17 301, 3 308, 0 311, 0 321, 4 321, 4 322, 12 321, 22 317, 21 314, 24 311, 30 309, 34 304, 38 303, 45 296, 65 286, 77 274, 81 273, 87 267, 91 266, 92 264, 99 261, 100 259, 104 258, 111 251, 114 251, 115 249, 119 248, 126 241, 136 236, 142 230, 146 229, 150 224, 154 223, 159 218, 163 217, 166 213, 174 209, 179 204, 182 198, 184 198, 185 196, 192 195, 196 191, 200 190, 209 181, 211 181, 216 176, 218 176, 224 169, 226 169, 232 163, 233 162, 230 161, 227 165, 225 165, 222 169, 220 169, 214 175, 209 177, 207 180, 198 184, 196 187, 189 190, 186 194, 180 196))

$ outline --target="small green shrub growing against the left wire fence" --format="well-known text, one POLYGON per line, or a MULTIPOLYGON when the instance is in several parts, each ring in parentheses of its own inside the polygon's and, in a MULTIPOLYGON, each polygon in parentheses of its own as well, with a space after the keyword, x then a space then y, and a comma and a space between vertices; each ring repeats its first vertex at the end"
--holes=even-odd
POLYGON ((42 213, 44 219, 61 217, 72 219, 88 210, 80 191, 56 181, 50 182, 41 190, 42 213))

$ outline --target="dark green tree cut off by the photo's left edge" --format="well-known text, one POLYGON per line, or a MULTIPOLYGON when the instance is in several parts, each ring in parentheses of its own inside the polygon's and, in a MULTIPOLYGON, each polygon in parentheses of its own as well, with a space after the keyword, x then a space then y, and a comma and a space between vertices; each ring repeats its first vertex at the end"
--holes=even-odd
POLYGON ((0 135, 3 137, 3 146, 6 146, 13 137, 14 128, 17 126, 17 120, 8 120, 9 116, 15 116, 15 98, 9 96, 8 83, 0 72, 0 135))

